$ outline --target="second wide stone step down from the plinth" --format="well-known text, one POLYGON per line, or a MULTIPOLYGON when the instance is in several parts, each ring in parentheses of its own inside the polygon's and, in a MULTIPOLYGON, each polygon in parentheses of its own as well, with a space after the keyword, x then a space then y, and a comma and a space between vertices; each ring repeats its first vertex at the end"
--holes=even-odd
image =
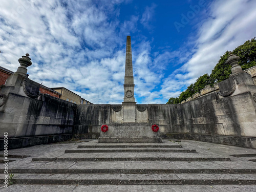
POLYGON ((112 149, 100 149, 100 150, 66 150, 65 153, 147 153, 147 152, 161 152, 161 153, 196 153, 196 150, 169 150, 162 148, 154 149, 141 149, 141 148, 112 148, 112 149))

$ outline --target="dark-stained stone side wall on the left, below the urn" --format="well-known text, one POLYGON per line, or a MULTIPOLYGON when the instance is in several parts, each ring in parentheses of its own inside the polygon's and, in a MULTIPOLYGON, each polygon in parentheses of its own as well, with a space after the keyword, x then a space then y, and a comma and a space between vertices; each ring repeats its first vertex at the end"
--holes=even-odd
MULTIPOLYGON (((8 132, 9 148, 71 139, 76 107, 46 94, 37 100, 9 93, 7 102, 0 107, 0 131, 8 132)), ((2 134, 0 138, 3 137, 2 134)))

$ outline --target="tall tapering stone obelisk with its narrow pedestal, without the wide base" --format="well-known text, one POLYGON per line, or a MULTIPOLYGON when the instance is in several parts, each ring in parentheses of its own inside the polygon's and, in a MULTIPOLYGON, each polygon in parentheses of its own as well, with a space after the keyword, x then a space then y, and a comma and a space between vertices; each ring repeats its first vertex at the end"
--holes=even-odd
POLYGON ((123 122, 135 122, 135 98, 131 36, 126 37, 125 76, 123 98, 123 122))

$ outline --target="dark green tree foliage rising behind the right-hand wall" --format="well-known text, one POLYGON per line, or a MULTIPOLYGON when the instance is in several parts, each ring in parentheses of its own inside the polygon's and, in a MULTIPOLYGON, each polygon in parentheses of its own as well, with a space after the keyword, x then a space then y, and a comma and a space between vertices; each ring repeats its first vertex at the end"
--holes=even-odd
MULTIPOLYGON (((234 49, 233 54, 240 57, 239 65, 243 70, 249 69, 256 66, 256 39, 255 37, 251 40, 245 41, 245 43, 236 49, 234 49)), ((167 104, 177 104, 188 97, 192 97, 193 94, 200 92, 207 84, 213 86, 214 83, 221 82, 229 78, 231 74, 231 66, 226 63, 229 52, 226 51, 224 55, 221 56, 220 60, 216 64, 215 68, 211 71, 211 74, 207 73, 200 76, 194 84, 190 84, 187 89, 180 93, 179 97, 171 97, 167 104)))

